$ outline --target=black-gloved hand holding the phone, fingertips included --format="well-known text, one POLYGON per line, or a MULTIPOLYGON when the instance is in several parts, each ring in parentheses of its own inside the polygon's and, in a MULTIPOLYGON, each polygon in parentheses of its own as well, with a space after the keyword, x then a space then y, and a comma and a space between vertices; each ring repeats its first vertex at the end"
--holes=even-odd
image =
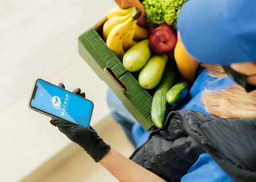
MULTIPOLYGON (((62 83, 59 86, 65 88, 62 83)), ((85 96, 79 88, 76 88, 73 93, 85 96)), ((110 150, 110 145, 104 143, 92 127, 85 128, 60 118, 53 118, 50 122, 57 126, 67 138, 80 145, 95 162, 99 162, 110 150)))

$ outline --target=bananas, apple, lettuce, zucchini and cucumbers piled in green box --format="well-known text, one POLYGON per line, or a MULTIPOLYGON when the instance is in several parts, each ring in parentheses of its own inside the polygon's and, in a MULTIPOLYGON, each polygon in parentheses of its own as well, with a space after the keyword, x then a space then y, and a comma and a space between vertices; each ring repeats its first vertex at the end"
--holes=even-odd
POLYGON ((177 13, 186 0, 115 2, 118 7, 103 24, 103 39, 129 72, 138 72, 143 88, 154 89, 151 117, 160 128, 168 110, 179 105, 190 88, 174 57, 177 13))

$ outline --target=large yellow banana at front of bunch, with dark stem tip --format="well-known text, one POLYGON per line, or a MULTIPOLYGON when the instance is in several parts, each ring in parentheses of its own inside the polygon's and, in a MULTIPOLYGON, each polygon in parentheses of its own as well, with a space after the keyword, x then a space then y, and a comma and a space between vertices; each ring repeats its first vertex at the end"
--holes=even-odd
POLYGON ((106 44, 110 50, 118 57, 120 61, 122 61, 124 56, 124 48, 123 48, 123 40, 124 35, 126 31, 128 30, 128 27, 130 24, 137 20, 141 15, 141 10, 132 7, 132 13, 130 14, 130 17, 125 22, 122 22, 120 24, 117 24, 108 34, 108 37, 106 39, 106 44))

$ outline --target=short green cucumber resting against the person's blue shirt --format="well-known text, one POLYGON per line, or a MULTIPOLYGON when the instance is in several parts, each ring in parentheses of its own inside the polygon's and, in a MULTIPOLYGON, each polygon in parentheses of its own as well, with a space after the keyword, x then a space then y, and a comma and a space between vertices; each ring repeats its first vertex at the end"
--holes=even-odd
POLYGON ((168 90, 166 93, 166 101, 172 106, 177 106, 186 98, 188 93, 189 83, 180 81, 168 90))

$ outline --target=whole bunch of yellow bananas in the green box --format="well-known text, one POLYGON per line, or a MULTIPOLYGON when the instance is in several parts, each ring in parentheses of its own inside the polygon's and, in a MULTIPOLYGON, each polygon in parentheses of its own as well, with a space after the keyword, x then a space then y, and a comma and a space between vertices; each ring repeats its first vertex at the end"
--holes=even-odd
POLYGON ((141 10, 132 7, 112 8, 103 24, 103 39, 110 50, 122 61, 124 53, 137 41, 148 37, 148 30, 137 25, 141 10), (136 39, 135 39, 136 38, 136 39))

